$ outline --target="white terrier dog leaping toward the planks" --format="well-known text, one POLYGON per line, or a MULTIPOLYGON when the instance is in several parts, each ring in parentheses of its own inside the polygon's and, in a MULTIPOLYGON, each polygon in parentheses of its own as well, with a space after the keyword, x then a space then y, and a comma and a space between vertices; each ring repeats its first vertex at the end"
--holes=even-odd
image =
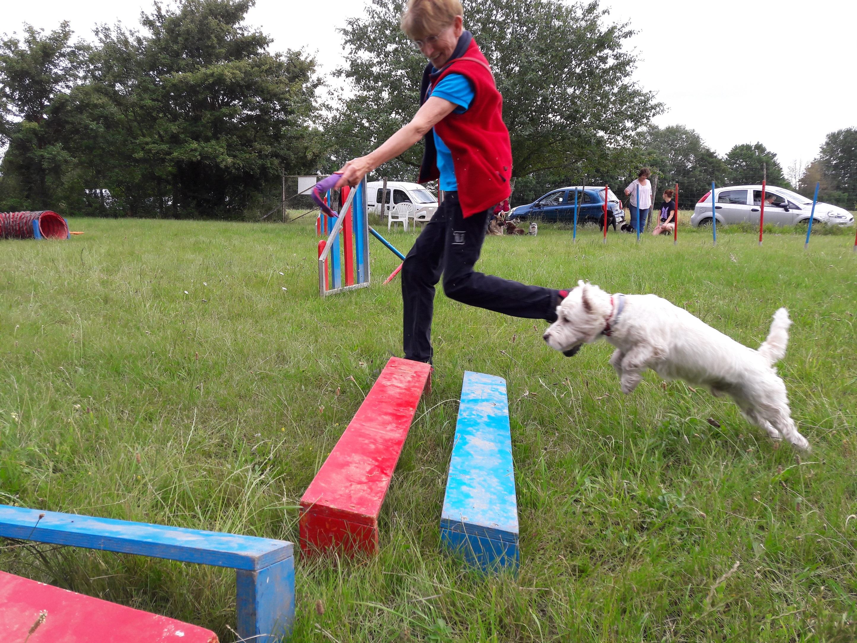
POLYGON ((637 388, 643 371, 665 380, 684 380, 728 394, 744 416, 774 440, 785 438, 809 449, 788 408, 786 385, 773 365, 786 354, 788 310, 774 314, 768 339, 758 351, 742 346, 685 309, 656 295, 614 295, 578 281, 556 308, 558 319, 544 340, 557 351, 570 352, 604 336, 616 347, 610 364, 619 374, 622 393, 637 388))

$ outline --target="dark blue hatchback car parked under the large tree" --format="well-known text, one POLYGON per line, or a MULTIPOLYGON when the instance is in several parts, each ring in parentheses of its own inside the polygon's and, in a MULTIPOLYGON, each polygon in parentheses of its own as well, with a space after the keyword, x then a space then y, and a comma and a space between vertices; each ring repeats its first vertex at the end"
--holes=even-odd
MULTIPOLYGON (((545 223, 567 222, 574 220, 574 198, 578 200, 578 224, 598 222, 604 212, 604 186, 572 185, 554 189, 548 194, 525 206, 512 209, 508 219, 540 219, 545 223)), ((607 189, 607 209, 612 210, 616 223, 625 221, 625 213, 619 198, 612 189, 607 189)))

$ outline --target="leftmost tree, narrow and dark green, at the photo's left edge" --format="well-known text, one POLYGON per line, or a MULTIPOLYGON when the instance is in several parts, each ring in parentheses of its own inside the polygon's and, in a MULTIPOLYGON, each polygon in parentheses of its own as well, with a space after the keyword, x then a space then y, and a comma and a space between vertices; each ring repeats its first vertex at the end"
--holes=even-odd
POLYGON ((87 45, 71 45, 68 22, 43 35, 25 24, 23 39, 0 40, 0 207, 51 206, 70 157, 63 147, 69 92, 80 81, 87 45))

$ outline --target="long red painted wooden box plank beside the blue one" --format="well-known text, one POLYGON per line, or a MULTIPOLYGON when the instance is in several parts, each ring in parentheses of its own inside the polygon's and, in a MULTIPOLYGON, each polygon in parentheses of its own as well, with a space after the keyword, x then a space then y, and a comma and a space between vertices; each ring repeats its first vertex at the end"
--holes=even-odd
POLYGON ((378 550, 378 514, 430 374, 422 362, 387 362, 301 498, 305 554, 378 550))

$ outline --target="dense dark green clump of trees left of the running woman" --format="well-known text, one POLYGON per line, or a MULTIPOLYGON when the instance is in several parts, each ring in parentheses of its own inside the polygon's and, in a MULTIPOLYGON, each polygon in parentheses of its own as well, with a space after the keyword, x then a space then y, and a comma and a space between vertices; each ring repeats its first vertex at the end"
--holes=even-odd
POLYGON ((26 46, 0 43, 0 197, 74 213, 241 218, 283 171, 314 170, 315 62, 268 51, 271 40, 244 24, 252 5, 156 3, 144 33, 100 27, 93 47, 69 45, 67 23, 45 38, 27 27, 26 46))

